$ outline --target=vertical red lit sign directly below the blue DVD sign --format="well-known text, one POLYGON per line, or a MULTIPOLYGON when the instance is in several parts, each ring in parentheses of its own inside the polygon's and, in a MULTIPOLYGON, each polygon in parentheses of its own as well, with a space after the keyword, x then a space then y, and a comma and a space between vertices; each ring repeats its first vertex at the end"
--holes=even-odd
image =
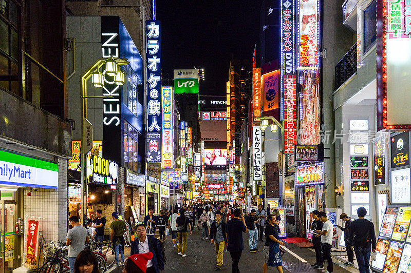
POLYGON ((297 142, 295 75, 284 76, 284 153, 294 153, 297 142))

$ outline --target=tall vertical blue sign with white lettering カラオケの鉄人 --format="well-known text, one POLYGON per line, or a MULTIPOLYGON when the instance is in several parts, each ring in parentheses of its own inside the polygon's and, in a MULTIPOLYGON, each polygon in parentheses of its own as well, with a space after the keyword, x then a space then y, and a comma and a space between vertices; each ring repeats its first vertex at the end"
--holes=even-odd
POLYGON ((147 132, 161 132, 160 21, 147 20, 147 132))

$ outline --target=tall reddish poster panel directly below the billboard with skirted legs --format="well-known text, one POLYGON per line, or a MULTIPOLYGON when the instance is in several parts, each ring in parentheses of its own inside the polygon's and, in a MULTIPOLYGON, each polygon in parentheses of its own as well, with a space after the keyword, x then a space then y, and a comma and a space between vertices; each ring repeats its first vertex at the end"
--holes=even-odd
POLYGON ((300 70, 300 144, 320 143, 320 71, 300 70))

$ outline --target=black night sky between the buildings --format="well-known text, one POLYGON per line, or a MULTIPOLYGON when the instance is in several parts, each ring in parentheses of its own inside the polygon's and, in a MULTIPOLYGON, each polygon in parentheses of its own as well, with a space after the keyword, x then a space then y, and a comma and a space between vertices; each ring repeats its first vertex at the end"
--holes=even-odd
MULTIPOLYGON (((231 59, 250 59, 259 48, 263 1, 156 1, 161 21, 162 73, 204 68, 200 95, 225 95, 231 59)), ((258 53, 257 53, 258 54, 258 53)))

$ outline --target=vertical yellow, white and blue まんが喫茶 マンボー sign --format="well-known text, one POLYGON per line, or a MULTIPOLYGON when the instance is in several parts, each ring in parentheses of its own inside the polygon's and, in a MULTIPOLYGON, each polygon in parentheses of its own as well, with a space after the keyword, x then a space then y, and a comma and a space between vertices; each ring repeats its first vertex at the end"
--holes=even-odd
POLYGON ((174 168, 174 150, 173 150, 173 87, 161 87, 162 102, 162 162, 163 169, 174 168))

